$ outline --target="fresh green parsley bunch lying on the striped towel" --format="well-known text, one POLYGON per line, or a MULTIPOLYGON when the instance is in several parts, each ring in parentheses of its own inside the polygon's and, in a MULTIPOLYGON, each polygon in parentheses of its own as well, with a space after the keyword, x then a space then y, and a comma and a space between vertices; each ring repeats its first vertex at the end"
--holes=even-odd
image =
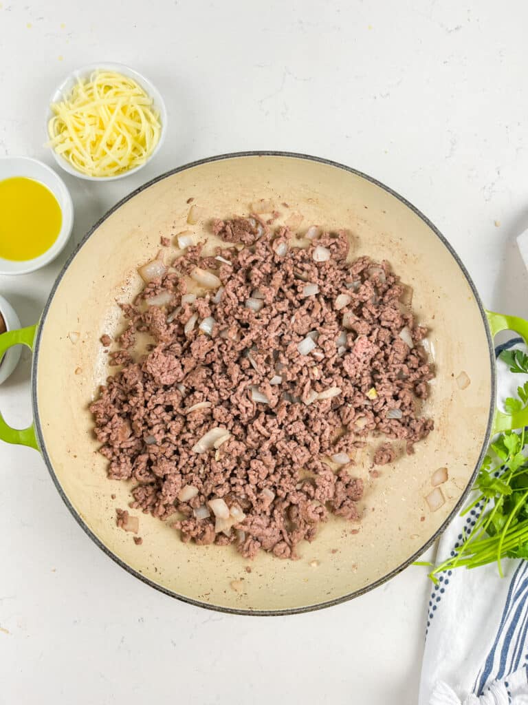
MULTIPOLYGON (((528 355, 522 350, 504 350, 501 359, 508 363, 510 372, 528 374, 528 355)), ((505 400, 508 414, 528 406, 528 382, 517 387, 517 397, 505 400)), ((479 505, 480 513, 471 532, 452 558, 437 565, 429 577, 465 565, 498 563, 503 577, 503 558, 528 558, 528 458, 523 453, 525 429, 504 431, 489 447, 489 453, 480 467, 473 489, 479 494, 462 513, 467 514, 479 505)), ((432 565, 422 563, 421 565, 432 565)))

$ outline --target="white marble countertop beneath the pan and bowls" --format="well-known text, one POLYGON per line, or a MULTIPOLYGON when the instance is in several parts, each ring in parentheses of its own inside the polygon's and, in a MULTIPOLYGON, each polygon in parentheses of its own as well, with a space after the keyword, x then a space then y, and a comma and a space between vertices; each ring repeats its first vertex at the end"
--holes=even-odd
MULTIPOLYGON (((63 174, 76 208, 67 251, 1 278, 37 321, 65 257, 114 202, 168 168, 244 149, 306 152, 405 195, 463 258, 489 307, 528 314, 515 235, 528 227, 528 82, 522 0, 2 0, 0 155, 53 164, 46 102, 63 75, 120 61, 163 92, 163 154, 108 185, 63 174)), ((29 355, 0 388, 30 419, 29 355)), ((284 618, 187 606, 118 568, 63 505, 44 462, 0 444, 0 703, 251 701, 413 705, 425 572, 284 618)))

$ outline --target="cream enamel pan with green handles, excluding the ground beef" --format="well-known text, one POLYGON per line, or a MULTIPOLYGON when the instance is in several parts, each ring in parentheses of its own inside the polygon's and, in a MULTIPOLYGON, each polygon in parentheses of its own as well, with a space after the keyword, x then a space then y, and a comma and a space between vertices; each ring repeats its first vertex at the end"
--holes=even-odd
MULTIPOLYGON (((196 231, 213 247, 205 224, 196 231)), ((156 178, 114 207, 70 257, 37 328, 0 336, 0 355, 20 342, 34 350, 34 426, 13 431, 1 421, 0 438, 40 450, 77 522, 108 556, 152 587, 223 611, 307 611, 389 579, 417 558, 460 509, 495 414, 491 335, 510 327, 512 320, 493 317, 490 325, 446 240, 420 212, 375 180, 296 154, 206 159, 156 178), (246 214, 251 202, 264 197, 287 202, 290 213, 303 214, 303 225, 348 228, 353 233, 350 256, 389 260, 413 287, 419 321, 431 328, 436 378, 424 412, 434 419, 435 430, 417 443, 414 455, 384 466, 377 479, 368 473, 372 452, 363 454, 352 469, 365 480, 359 526, 330 517, 313 543, 299 546, 299 560, 260 552, 251 573, 245 570, 248 560, 232 546, 183 544, 169 523, 150 515, 139 515, 141 546, 116 527, 115 508, 127 507, 131 486, 106 478, 106 460, 96 452, 88 411, 109 374, 99 338, 122 328, 115 302, 130 301, 142 288, 137 267, 157 252, 160 235, 170 233, 173 223, 184 229, 189 197, 207 218, 246 214), (470 377, 465 389, 456 383, 460 372, 470 377), (464 443, 451 443, 461 429, 464 443), (425 497, 439 467, 448 468, 448 482, 442 485, 446 502, 432 512, 425 497), (241 578, 243 588, 235 591, 231 582, 241 578)), ((526 325, 515 322, 517 328, 526 325)))

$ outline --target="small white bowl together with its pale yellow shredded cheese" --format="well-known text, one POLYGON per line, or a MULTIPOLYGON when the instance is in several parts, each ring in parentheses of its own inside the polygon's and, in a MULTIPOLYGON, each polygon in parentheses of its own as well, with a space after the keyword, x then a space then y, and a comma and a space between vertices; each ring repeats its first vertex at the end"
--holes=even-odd
POLYGON ((73 176, 110 181, 145 166, 166 128, 165 103, 149 80, 120 63, 94 63, 73 71, 52 95, 46 146, 73 176))

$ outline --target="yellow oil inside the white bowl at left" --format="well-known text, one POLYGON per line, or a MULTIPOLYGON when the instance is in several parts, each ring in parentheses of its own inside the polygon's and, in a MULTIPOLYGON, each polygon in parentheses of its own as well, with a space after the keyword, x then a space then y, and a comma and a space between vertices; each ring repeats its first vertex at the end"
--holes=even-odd
POLYGON ((22 262, 43 255, 58 238, 62 220, 44 184, 25 176, 0 181, 0 257, 22 262))

